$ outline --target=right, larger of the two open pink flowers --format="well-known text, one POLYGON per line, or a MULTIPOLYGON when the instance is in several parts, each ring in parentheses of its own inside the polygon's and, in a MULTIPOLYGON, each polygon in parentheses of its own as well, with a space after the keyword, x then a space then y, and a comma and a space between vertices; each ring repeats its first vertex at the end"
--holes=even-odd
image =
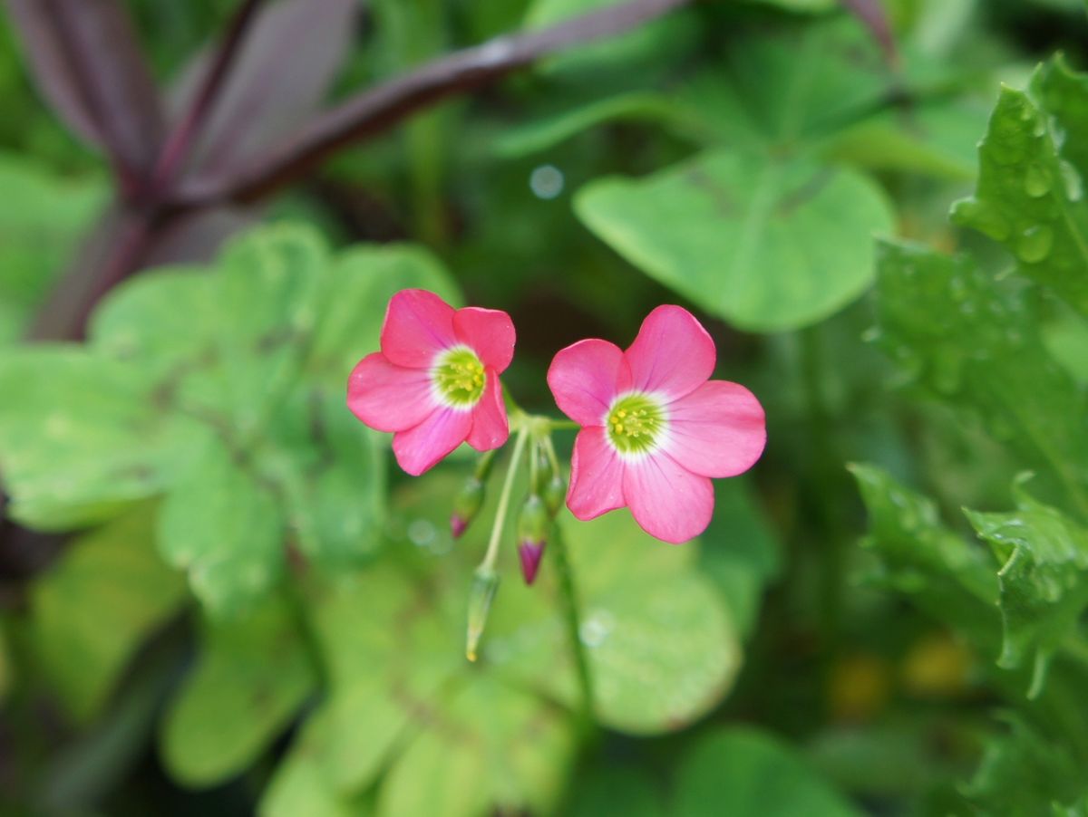
POLYGON ((679 306, 658 306, 620 350, 582 340, 552 361, 559 409, 583 426, 567 507, 592 519, 628 506, 647 533, 685 542, 714 514, 709 477, 747 470, 767 439, 763 406, 738 384, 709 380, 714 341, 679 306))

